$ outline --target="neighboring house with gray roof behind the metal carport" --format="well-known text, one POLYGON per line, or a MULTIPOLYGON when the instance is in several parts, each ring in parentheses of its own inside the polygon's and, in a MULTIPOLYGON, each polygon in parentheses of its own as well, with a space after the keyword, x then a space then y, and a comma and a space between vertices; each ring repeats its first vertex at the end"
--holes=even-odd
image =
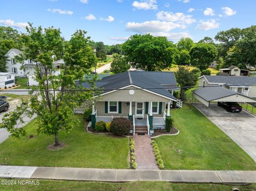
POLYGON ((223 86, 249 97, 256 97, 256 77, 201 76, 199 86, 223 86))

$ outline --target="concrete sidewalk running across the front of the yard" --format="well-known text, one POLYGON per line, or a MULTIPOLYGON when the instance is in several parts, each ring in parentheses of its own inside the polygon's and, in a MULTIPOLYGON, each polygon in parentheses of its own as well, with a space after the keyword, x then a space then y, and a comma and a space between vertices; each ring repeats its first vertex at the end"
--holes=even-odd
POLYGON ((245 184, 256 182, 256 171, 85 169, 2 165, 0 177, 103 182, 169 181, 245 184))

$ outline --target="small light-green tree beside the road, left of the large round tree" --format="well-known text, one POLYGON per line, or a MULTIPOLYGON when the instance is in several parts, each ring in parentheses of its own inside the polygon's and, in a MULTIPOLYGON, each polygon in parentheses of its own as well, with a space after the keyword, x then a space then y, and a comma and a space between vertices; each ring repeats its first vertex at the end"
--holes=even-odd
POLYGON ((113 62, 111 63, 110 71, 113 73, 122 73, 130 69, 130 64, 127 62, 126 57, 120 54, 113 55, 113 62))

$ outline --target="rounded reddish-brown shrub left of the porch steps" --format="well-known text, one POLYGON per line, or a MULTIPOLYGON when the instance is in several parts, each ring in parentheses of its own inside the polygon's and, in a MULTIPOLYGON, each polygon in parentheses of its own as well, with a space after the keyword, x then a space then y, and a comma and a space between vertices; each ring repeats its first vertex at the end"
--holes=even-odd
POLYGON ((115 135, 128 135, 130 129, 132 128, 132 123, 126 118, 115 118, 111 122, 110 131, 115 135))

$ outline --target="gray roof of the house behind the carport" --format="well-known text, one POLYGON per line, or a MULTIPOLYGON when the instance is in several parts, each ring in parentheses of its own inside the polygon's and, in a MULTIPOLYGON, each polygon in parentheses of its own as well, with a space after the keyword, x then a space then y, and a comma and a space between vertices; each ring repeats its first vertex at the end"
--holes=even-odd
POLYGON ((256 77, 248 76, 204 76, 209 83, 232 85, 256 85, 256 77))

